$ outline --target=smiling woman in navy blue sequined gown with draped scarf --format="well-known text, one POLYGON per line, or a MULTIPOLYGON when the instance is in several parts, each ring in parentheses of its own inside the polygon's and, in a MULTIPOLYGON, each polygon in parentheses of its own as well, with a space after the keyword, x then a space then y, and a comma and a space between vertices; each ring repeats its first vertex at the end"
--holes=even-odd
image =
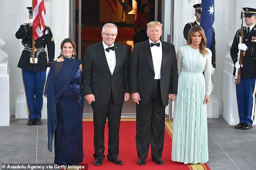
POLYGON ((48 150, 54 135, 55 164, 75 165, 83 161, 82 61, 73 57, 76 43, 64 39, 61 57, 54 61, 46 82, 48 150))

